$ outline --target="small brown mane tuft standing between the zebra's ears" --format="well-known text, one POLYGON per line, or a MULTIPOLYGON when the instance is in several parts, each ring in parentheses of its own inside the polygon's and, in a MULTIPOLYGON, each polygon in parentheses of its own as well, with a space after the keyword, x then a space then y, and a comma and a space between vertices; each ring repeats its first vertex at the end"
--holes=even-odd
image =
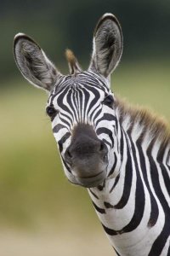
POLYGON ((71 49, 65 50, 65 56, 68 61, 69 70, 70 70, 71 75, 76 75, 77 73, 82 72, 82 69, 79 66, 79 63, 77 61, 77 58, 75 57, 75 55, 73 54, 71 49))

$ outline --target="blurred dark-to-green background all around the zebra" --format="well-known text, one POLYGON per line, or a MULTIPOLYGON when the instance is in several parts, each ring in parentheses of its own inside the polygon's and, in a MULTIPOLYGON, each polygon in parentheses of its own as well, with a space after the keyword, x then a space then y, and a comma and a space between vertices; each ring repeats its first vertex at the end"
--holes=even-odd
POLYGON ((94 26, 111 12, 122 24, 122 62, 112 89, 170 122, 170 2, 3 1, 0 8, 0 256, 114 255, 86 189, 68 183, 45 115, 47 96, 14 64, 15 33, 34 38, 67 73, 73 49, 88 67, 94 26))

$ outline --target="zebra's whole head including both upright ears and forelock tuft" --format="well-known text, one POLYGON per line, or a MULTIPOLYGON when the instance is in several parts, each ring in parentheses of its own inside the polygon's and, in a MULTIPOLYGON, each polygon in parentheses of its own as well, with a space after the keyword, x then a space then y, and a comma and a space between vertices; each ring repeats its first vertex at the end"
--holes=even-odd
POLYGON ((49 93, 46 112, 71 183, 95 187, 115 173, 116 113, 110 76, 121 55, 122 30, 111 14, 103 15, 94 30, 92 59, 85 72, 71 50, 66 51, 70 74, 63 75, 31 38, 22 33, 14 38, 20 72, 49 93))

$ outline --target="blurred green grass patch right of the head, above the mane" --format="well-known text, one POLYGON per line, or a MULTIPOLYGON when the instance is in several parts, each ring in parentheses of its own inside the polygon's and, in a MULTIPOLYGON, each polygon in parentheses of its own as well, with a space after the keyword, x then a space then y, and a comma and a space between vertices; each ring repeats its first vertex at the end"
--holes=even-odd
POLYGON ((148 107, 170 122, 169 67, 170 62, 162 59, 122 63, 116 79, 112 76, 112 88, 128 102, 148 107))

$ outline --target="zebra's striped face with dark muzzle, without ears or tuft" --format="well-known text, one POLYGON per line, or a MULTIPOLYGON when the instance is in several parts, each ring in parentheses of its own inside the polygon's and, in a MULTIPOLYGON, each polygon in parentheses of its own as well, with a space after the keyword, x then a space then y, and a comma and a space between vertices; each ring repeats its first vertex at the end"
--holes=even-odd
POLYGON ((114 97, 92 72, 59 79, 48 99, 54 137, 71 183, 94 187, 111 174, 114 157, 114 97))

